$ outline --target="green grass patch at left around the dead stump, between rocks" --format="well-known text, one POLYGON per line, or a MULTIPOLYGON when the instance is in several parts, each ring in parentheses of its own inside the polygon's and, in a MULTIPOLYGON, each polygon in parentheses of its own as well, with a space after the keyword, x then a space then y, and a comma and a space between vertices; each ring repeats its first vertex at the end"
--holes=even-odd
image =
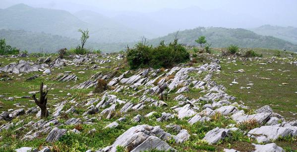
MULTIPOLYGON (((53 56, 52 59, 54 59, 56 56, 53 56)), ((2 66, 7 65, 11 62, 18 62, 19 59, 22 60, 31 60, 36 61, 36 57, 30 57, 30 58, 8 58, 3 59, 0 58, 0 62, 2 62, 2 66)), ((92 66, 90 65, 82 65, 82 66, 65 66, 62 68, 53 68, 51 69, 52 74, 42 75, 42 72, 32 72, 32 73, 23 73, 21 75, 18 74, 9 74, 8 76, 12 78, 12 80, 9 81, 0 81, 0 95, 5 95, 5 98, 8 97, 23 97, 23 96, 29 96, 28 92, 32 91, 39 91, 40 83, 44 82, 45 85, 48 86, 48 88, 51 88, 49 92, 49 101, 57 101, 61 100, 62 98, 66 97, 67 93, 70 93, 71 95, 75 93, 89 93, 90 91, 93 91, 93 89, 71 89, 74 85, 78 85, 84 81, 87 81, 90 79, 90 77, 93 74, 96 74, 97 72, 110 72, 110 68, 115 68, 118 66, 118 63, 120 64, 122 61, 119 62, 110 62, 105 64, 100 64, 102 67, 107 68, 99 68, 96 70, 89 70, 89 68, 92 66), (86 68, 86 70, 84 70, 86 68), (70 74, 75 74, 78 77, 78 80, 73 82, 58 82, 56 80, 53 80, 53 78, 56 78, 58 74, 64 73, 64 71, 71 71, 70 74), (79 73, 80 71, 83 71, 85 73, 79 73), (25 81, 27 78, 33 76, 33 75, 40 75, 38 78, 31 80, 31 81, 25 81), (54 100, 55 99, 55 100, 54 100)), ((4 74, 4 73, 1 73, 4 74)), ((7 74, 6 74, 7 75, 7 74)), ((14 101, 6 101, 4 99, 0 98, 0 107, 1 111, 5 111, 7 109, 13 109, 15 106, 13 106, 14 103, 21 103, 21 105, 28 107, 36 106, 34 101, 30 101, 32 99, 23 99, 23 98, 15 98, 14 101)))

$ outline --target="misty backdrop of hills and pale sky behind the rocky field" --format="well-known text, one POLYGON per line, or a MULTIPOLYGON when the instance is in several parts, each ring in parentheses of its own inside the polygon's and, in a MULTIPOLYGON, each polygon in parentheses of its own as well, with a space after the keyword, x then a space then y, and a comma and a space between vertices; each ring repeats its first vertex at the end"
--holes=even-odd
POLYGON ((153 44, 162 39, 169 41, 172 34, 168 34, 176 31, 180 31, 180 41, 188 45, 195 45, 194 40, 205 35, 213 47, 238 44, 296 51, 297 21, 292 18, 297 16, 294 7, 297 2, 289 0, 269 3, 262 0, 0 0, 0 4, 0 29, 5 29, 0 38, 29 51, 38 48, 56 51, 63 45, 76 47, 79 28, 90 31, 88 47, 103 51, 119 51, 142 36, 153 44), (197 27, 210 28, 197 32, 197 27), (26 44, 28 41, 21 40, 26 36, 43 36, 40 40, 49 44, 38 41, 31 41, 38 44, 26 44), (58 40, 63 42, 52 42, 54 36, 60 36, 58 40), (19 43, 13 42, 16 40, 19 43))

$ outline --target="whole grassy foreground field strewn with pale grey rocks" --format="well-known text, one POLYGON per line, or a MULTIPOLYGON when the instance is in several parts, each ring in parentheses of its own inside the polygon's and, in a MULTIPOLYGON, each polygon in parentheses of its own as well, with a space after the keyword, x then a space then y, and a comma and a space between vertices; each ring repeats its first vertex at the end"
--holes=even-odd
POLYGON ((1 56, 0 151, 297 151, 296 58, 200 56, 135 71, 119 53, 1 56))

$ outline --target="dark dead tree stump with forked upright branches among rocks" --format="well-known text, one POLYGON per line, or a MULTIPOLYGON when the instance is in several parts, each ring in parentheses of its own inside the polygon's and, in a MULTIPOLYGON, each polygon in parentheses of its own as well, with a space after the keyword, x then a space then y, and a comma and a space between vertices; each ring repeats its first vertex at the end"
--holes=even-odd
POLYGON ((41 109, 41 118, 47 118, 48 117, 48 109, 47 109, 47 102, 48 102, 48 95, 49 90, 46 92, 43 92, 43 82, 40 85, 40 99, 39 101, 36 99, 35 95, 33 95, 33 99, 35 103, 40 107, 41 109))

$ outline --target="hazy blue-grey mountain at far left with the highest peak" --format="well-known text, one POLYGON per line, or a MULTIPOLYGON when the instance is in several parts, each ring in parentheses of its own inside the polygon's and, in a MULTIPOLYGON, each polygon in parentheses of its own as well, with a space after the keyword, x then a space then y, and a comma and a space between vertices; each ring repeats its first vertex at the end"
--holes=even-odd
POLYGON ((33 8, 25 4, 2 9, 0 14, 0 29, 45 32, 74 37, 79 33, 73 31, 87 27, 87 23, 67 11, 33 8))

